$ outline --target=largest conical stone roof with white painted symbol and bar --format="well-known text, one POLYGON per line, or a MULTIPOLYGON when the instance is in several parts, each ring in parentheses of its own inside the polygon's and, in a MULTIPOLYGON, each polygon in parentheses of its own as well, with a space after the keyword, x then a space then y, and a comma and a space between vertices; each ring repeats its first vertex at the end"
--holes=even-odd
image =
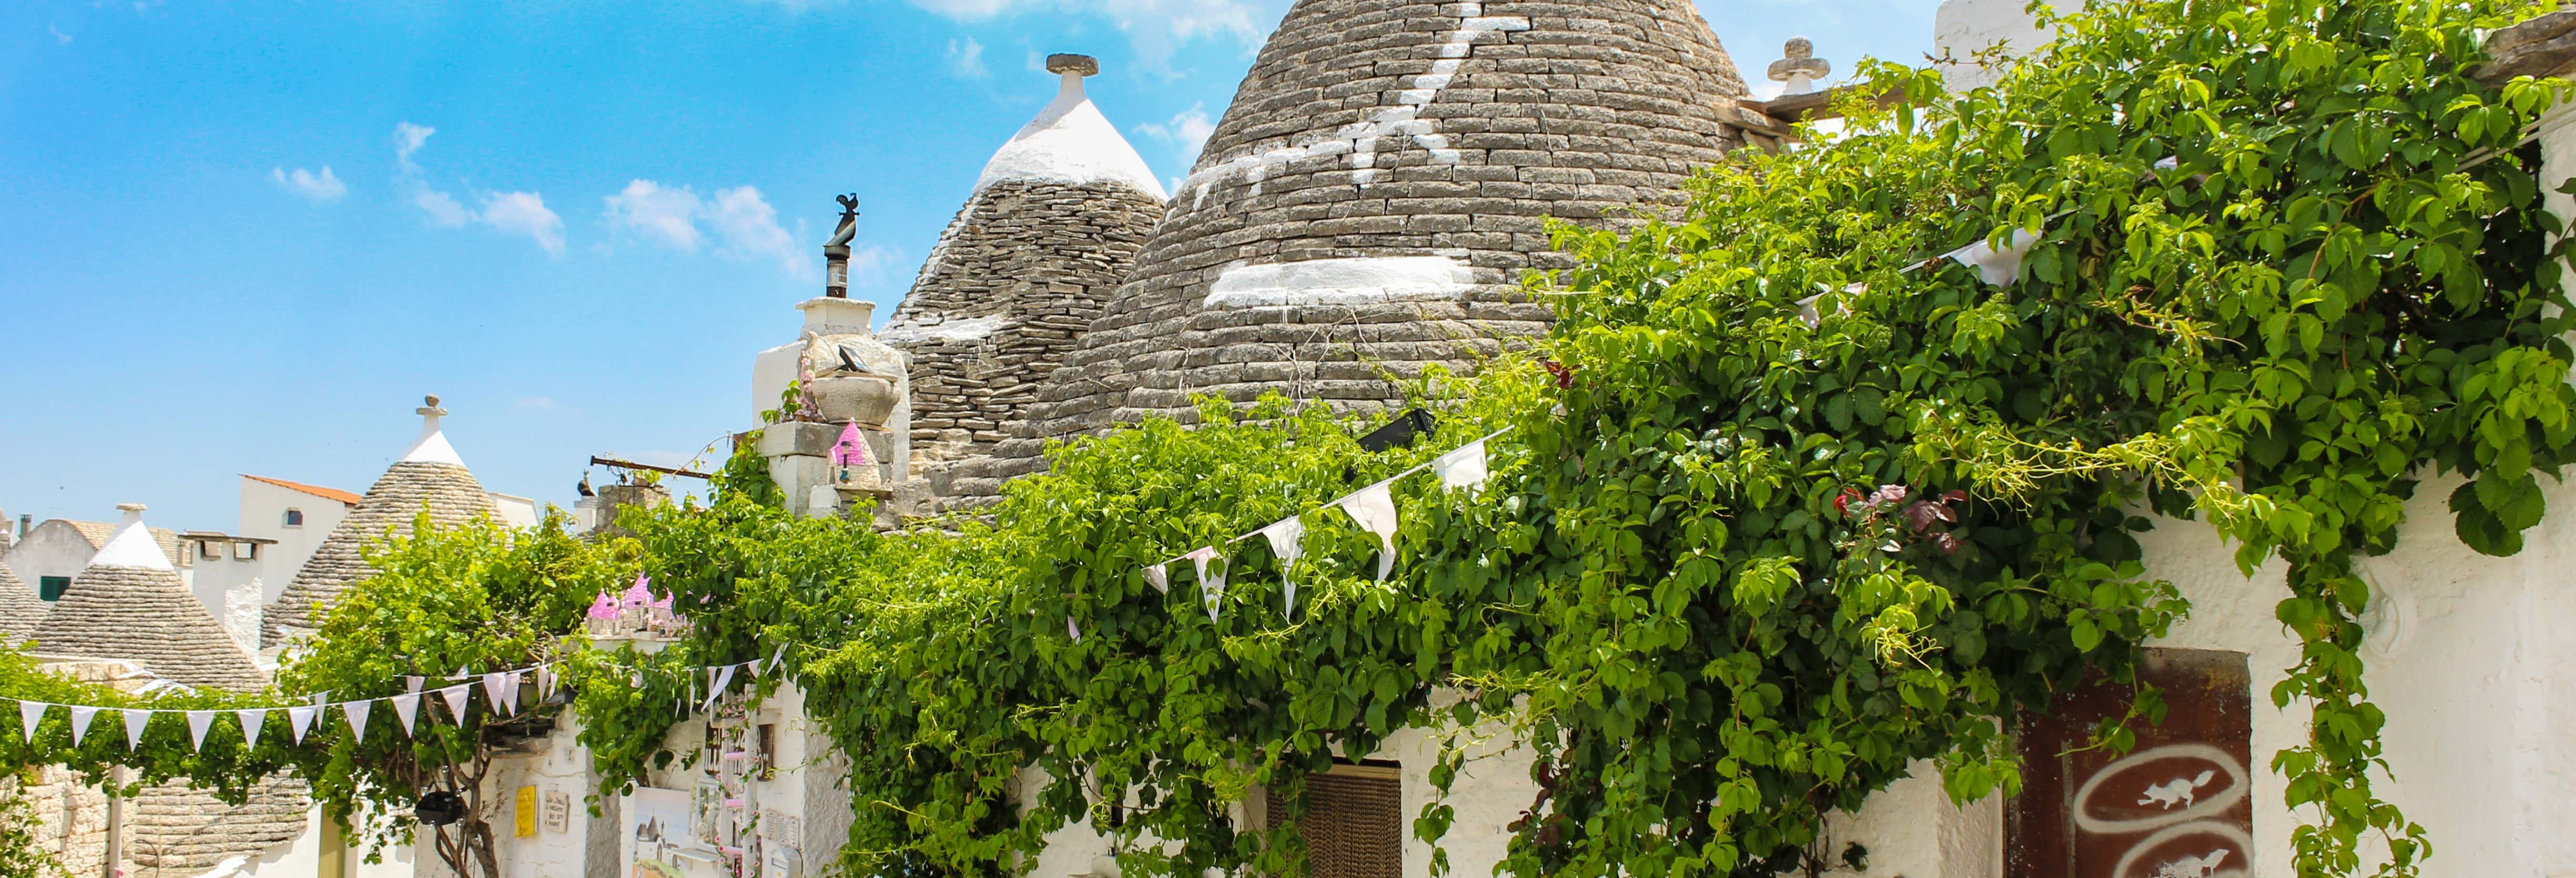
POLYGON ((1677 214, 1741 95, 1690 0, 1298 0, 1028 438, 1193 420, 1190 394, 1370 407, 1543 332, 1517 291, 1566 265, 1543 216, 1677 214))

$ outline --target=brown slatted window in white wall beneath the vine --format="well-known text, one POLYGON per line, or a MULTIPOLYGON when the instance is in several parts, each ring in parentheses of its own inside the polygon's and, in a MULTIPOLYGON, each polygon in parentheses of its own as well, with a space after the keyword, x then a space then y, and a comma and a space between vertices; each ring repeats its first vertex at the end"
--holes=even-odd
MULTIPOLYGON (((1270 829, 1288 824, 1288 801, 1265 801, 1270 829)), ((1306 778, 1306 875, 1311 878, 1399 878, 1404 875, 1404 780, 1386 762, 1334 765, 1306 778)))

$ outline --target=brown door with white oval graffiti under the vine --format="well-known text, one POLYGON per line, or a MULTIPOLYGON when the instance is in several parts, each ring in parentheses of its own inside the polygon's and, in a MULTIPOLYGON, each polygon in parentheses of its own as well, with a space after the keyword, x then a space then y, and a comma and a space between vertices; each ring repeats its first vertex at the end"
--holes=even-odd
POLYGON ((2231 878, 2254 855, 2254 693, 2241 651, 2148 649, 2138 677, 2164 690, 2164 724, 2138 747, 2081 749, 2128 713, 2130 687, 2061 693, 2022 718, 2022 796, 2004 829, 2014 878, 2231 878))

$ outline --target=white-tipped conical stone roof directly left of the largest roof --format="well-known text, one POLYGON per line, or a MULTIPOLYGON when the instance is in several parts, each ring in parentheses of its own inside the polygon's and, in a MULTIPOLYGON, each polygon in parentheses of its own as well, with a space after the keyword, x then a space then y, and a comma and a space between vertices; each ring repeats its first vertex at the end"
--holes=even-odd
POLYGON ((878 332, 912 358, 914 463, 1018 430, 1162 219, 1162 183, 1082 93, 1097 62, 1056 54, 1048 70, 1056 100, 984 165, 878 332))

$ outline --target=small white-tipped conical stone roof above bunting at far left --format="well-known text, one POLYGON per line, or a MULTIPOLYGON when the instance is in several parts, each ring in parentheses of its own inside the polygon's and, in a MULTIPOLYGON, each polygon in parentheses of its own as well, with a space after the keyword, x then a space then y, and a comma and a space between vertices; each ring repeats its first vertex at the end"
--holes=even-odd
POLYGON ((126 507, 126 523, 36 626, 36 651, 126 659, 196 687, 247 693, 268 685, 268 675, 178 579, 139 505, 126 507))

